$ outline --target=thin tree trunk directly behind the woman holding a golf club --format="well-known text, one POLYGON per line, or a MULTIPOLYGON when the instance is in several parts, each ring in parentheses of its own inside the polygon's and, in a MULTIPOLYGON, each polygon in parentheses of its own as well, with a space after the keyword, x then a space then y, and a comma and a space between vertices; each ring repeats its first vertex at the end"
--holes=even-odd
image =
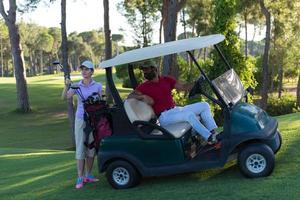
MULTIPOLYGON (((68 65, 68 38, 66 30, 66 0, 61 0, 61 51, 62 51, 62 65, 64 68, 65 79, 70 79, 70 68, 68 65)), ((74 125, 75 125, 75 112, 73 105, 73 98, 68 98, 68 117, 70 126, 70 135, 73 147, 75 146, 75 135, 74 135, 74 125)))

